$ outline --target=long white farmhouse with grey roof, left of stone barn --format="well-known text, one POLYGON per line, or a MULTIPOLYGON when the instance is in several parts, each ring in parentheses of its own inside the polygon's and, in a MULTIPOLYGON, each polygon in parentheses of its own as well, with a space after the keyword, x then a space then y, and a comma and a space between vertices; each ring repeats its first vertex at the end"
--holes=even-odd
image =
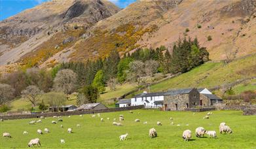
POLYGON ((147 93, 147 91, 144 91, 131 99, 131 105, 144 105, 146 108, 162 107, 164 103, 164 93, 165 92, 147 93))

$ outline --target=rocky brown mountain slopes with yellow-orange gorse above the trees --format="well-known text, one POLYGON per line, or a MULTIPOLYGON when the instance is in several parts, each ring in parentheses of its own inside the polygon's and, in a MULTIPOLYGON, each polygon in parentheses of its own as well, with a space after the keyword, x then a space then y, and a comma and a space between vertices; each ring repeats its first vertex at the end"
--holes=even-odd
POLYGON ((46 67, 104 58, 138 47, 172 50, 198 38, 213 60, 256 50, 256 1, 141 0, 120 10, 109 1, 51 1, 0 23, 0 65, 46 67), (12 29, 14 28, 14 29, 12 29))

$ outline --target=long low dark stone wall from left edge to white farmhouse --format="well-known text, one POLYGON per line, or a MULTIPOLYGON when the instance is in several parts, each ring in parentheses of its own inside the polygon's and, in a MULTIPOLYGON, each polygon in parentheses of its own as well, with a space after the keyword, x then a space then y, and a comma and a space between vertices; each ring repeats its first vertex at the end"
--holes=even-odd
POLYGON ((26 118, 39 118, 40 116, 52 117, 52 116, 70 116, 70 115, 80 115, 80 114, 94 114, 102 112, 117 112, 122 110, 136 110, 144 108, 143 105, 132 106, 132 107, 122 107, 122 108, 107 108, 102 110, 77 110, 77 111, 67 111, 67 112, 47 112, 40 114, 20 114, 20 115, 9 115, 0 116, 3 120, 16 120, 16 119, 26 119, 26 118))

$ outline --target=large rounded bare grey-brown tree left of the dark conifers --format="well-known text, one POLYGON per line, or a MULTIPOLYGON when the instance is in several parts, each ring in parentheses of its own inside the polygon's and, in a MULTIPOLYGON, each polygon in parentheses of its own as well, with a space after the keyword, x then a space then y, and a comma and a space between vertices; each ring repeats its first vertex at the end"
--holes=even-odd
POLYGON ((54 91, 72 93, 77 84, 77 74, 70 69, 63 69, 54 78, 54 91))

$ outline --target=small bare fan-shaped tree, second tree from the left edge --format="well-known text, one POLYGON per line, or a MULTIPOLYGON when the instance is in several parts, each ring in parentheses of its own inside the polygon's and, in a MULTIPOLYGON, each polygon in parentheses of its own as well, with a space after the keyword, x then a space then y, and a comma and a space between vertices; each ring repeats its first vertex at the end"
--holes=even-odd
POLYGON ((37 86, 27 86, 25 90, 22 90, 22 97, 28 99, 33 107, 37 105, 37 101, 39 101, 39 95, 41 95, 43 91, 39 90, 37 86))

